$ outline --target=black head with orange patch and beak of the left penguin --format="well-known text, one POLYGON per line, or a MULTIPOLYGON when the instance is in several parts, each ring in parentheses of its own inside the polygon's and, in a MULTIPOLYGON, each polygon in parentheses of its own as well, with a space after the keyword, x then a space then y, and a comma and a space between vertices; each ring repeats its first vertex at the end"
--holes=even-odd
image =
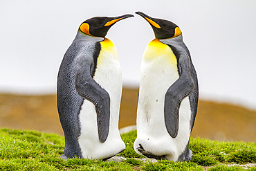
POLYGON ((107 35, 107 31, 111 26, 113 26, 113 24, 128 17, 134 17, 134 15, 122 15, 119 17, 93 17, 84 21, 80 25, 79 30, 86 35, 105 37, 107 35))

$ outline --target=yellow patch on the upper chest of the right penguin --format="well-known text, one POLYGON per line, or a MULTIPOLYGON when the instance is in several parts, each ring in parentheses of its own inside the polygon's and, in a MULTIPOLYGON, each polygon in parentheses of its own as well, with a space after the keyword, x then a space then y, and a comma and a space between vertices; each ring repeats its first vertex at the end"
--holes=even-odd
POLYGON ((177 60, 170 46, 163 44, 158 39, 152 40, 145 49, 144 60, 158 60, 163 59, 166 62, 176 66, 177 60))

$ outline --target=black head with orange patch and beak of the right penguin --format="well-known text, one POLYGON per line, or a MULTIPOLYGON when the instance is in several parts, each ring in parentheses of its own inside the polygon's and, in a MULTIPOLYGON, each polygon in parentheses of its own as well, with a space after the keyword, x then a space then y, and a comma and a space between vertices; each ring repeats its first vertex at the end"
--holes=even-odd
POLYGON ((143 12, 135 12, 146 19, 152 26, 156 39, 167 39, 181 35, 181 29, 171 21, 156 19, 145 15, 143 12))

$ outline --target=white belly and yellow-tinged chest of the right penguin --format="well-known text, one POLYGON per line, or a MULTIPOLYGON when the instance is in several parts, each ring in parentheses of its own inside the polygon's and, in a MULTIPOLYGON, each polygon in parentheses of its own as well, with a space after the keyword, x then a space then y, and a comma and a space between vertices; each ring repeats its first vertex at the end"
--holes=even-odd
POLYGON ((185 98, 181 102, 179 131, 176 138, 172 138, 165 127, 164 104, 167 89, 179 78, 176 58, 168 46, 151 43, 145 50, 140 69, 134 149, 140 154, 137 150, 140 144, 147 152, 177 161, 190 138, 190 101, 185 98))

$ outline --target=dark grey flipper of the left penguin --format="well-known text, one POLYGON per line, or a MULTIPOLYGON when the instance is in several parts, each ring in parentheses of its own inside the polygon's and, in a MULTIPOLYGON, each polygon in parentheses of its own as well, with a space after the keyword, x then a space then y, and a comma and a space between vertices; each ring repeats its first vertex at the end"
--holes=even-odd
POLYGON ((82 98, 95 105, 100 142, 104 143, 109 134, 110 98, 109 93, 93 80, 90 67, 83 67, 75 76, 75 89, 82 98))

